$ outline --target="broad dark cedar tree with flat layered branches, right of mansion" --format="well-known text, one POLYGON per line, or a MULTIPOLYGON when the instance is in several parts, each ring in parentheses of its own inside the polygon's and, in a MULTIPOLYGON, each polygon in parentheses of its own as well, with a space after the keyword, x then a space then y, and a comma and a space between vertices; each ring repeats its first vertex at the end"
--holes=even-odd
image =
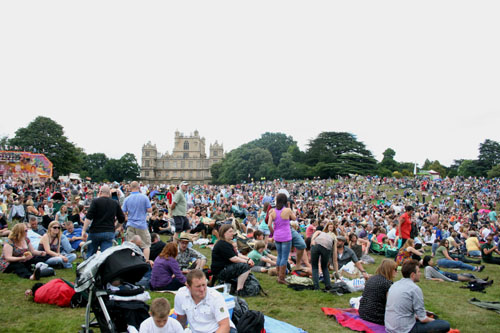
POLYGON ((309 143, 306 152, 306 162, 318 166, 320 177, 335 177, 337 175, 375 173, 377 161, 351 133, 322 132, 309 143))

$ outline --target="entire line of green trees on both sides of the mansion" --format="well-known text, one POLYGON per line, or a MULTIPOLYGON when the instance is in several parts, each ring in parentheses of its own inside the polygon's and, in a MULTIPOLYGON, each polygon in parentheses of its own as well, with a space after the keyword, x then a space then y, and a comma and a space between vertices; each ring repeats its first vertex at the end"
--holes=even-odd
MULTIPOLYGON (((54 177, 80 173, 93 181, 134 180, 140 176, 135 155, 119 159, 104 153, 86 154, 70 142, 61 125, 47 117, 37 117, 27 127, 19 128, 11 139, 3 137, 4 149, 43 153, 51 160, 54 177)), ((322 132, 301 151, 293 137, 284 133, 264 133, 228 152, 211 167, 214 184, 236 184, 263 179, 336 178, 347 175, 381 177, 413 176, 413 162, 398 162, 396 152, 387 148, 378 162, 354 134, 322 132)), ((476 160, 457 159, 446 167, 439 161, 426 160, 422 170, 434 170, 441 177, 500 177, 500 144, 486 139, 479 145, 476 160)))

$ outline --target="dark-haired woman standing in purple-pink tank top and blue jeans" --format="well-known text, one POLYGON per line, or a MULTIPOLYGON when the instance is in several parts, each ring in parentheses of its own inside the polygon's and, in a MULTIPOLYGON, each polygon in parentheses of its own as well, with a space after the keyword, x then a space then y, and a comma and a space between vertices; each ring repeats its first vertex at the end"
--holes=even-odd
POLYGON ((286 284, 286 263, 292 247, 292 231, 290 220, 296 220, 294 212, 287 207, 286 194, 280 193, 276 197, 276 208, 269 214, 269 229, 274 233, 274 242, 278 250, 276 260, 278 270, 278 283, 286 284))

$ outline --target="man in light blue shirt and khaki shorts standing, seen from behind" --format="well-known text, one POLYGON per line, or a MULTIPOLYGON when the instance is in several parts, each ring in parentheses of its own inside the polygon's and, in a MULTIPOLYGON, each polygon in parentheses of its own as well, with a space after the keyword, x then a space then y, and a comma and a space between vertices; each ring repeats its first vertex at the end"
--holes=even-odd
POLYGON ((151 202, 145 194, 140 191, 139 183, 130 183, 130 195, 123 202, 123 212, 127 214, 127 241, 130 242, 135 235, 141 237, 144 244, 144 258, 149 260, 151 247, 151 235, 146 221, 147 213, 151 213, 153 208, 151 202))

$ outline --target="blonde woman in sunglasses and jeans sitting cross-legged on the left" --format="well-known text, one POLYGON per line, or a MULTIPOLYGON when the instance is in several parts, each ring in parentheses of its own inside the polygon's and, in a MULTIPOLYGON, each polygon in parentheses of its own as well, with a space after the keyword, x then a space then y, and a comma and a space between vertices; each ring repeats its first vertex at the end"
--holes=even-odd
POLYGON ((71 263, 76 259, 74 253, 61 252, 62 231, 58 221, 49 224, 47 233, 40 239, 39 250, 47 252, 49 259, 45 262, 49 266, 71 268, 71 263))

